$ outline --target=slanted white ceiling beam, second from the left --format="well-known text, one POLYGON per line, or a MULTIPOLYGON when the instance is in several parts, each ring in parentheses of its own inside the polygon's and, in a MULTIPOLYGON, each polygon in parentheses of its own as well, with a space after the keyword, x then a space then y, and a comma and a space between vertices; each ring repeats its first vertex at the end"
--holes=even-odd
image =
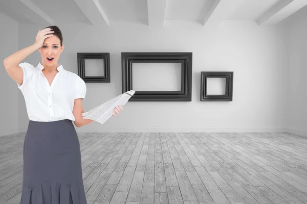
POLYGON ((109 25, 109 20, 98 0, 74 0, 94 26, 109 25))

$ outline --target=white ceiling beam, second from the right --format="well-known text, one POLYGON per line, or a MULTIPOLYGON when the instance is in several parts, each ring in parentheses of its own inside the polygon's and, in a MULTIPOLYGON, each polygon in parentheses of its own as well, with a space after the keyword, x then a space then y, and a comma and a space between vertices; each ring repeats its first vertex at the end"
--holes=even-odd
POLYGON ((224 19, 227 19, 227 16, 234 11, 239 3, 240 1, 215 0, 204 19, 204 25, 220 24, 224 19))

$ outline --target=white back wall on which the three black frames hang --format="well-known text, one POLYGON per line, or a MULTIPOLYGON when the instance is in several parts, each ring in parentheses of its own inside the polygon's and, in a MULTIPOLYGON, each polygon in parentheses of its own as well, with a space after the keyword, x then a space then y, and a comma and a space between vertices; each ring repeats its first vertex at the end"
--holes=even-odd
MULTIPOLYGON (((193 52, 191 102, 131 101, 103 125, 93 122, 78 132, 284 131, 288 60, 282 28, 252 21, 225 21, 218 30, 184 23, 164 28, 57 25, 64 38, 59 60, 64 69, 77 73, 77 52, 111 53, 111 83, 86 83, 85 112, 121 94, 121 52, 193 52), (201 102, 201 71, 234 71, 233 101, 201 102)), ((26 24, 18 28, 19 48, 34 43, 41 29, 26 24)), ((38 51, 26 59, 35 65, 40 60, 38 51)), ((20 131, 25 132, 22 97, 19 109, 20 131)))

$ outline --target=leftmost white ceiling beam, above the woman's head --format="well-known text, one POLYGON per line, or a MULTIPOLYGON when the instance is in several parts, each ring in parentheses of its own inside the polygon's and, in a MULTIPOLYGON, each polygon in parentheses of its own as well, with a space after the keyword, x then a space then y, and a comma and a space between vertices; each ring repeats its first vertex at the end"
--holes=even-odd
POLYGON ((54 20, 45 12, 40 10, 30 0, 10 0, 2 1, 9 8, 14 9, 14 12, 29 19, 33 24, 39 26, 53 25, 54 20))

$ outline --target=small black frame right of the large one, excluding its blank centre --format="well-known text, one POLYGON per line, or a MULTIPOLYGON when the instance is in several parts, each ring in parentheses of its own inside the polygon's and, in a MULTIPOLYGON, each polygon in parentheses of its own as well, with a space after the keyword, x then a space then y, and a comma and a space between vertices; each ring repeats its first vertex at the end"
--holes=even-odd
POLYGON ((202 71, 201 72, 201 101, 232 101, 233 71, 202 71), (208 95, 208 78, 226 78, 224 95, 208 95))

